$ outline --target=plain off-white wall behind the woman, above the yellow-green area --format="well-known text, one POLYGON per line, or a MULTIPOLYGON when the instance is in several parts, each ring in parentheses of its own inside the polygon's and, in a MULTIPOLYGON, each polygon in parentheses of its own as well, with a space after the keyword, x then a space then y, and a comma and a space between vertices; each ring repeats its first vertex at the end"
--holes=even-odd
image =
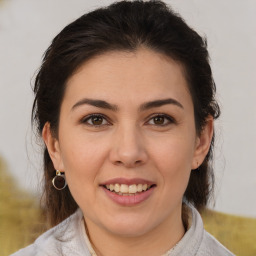
MULTIPOLYGON (((30 113, 41 57, 64 26, 112 2, 0 0, 0 156, 21 188, 40 191, 40 147, 30 113)), ((215 209, 256 217, 256 1, 165 2, 208 39, 222 109, 216 122, 215 209)))

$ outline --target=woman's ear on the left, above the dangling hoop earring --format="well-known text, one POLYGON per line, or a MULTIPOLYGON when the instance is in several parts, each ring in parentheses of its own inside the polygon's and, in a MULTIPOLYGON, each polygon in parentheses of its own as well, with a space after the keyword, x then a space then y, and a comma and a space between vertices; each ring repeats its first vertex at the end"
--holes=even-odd
POLYGON ((55 170, 64 172, 64 166, 61 158, 61 151, 58 139, 53 135, 50 123, 44 125, 42 137, 51 157, 55 170))

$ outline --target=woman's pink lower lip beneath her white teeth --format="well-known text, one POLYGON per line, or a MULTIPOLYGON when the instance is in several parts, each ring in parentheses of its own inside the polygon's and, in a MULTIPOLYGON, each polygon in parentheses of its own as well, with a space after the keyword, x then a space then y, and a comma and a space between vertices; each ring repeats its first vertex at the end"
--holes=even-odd
POLYGON ((114 201, 115 203, 122 205, 122 206, 133 206, 140 204, 147 200, 153 193, 155 186, 151 187, 149 190, 137 193, 136 195, 132 196, 121 196, 114 192, 109 191, 105 187, 102 187, 107 196, 114 201))

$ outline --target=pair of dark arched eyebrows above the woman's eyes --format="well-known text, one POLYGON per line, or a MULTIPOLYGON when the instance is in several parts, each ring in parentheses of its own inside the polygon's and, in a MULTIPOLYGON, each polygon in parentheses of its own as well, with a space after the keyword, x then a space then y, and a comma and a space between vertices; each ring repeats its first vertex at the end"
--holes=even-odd
MULTIPOLYGON (((104 100, 98 100, 98 99, 88 99, 88 98, 84 98, 80 101, 78 101, 73 107, 72 110, 74 110, 75 108, 81 106, 81 105, 91 105, 97 108, 103 108, 103 109, 109 109, 112 110, 114 112, 117 112, 119 110, 117 105, 114 104, 110 104, 107 101, 104 100)), ((160 100, 154 100, 154 101, 149 101, 149 102, 145 102, 143 104, 140 105, 139 110, 140 111, 145 111, 151 108, 157 108, 157 107, 161 107, 167 104, 172 104, 175 105, 177 107, 180 107, 182 109, 184 109, 184 107, 182 106, 182 104, 180 102, 178 102, 175 99, 172 98, 167 98, 167 99, 160 99, 160 100)))

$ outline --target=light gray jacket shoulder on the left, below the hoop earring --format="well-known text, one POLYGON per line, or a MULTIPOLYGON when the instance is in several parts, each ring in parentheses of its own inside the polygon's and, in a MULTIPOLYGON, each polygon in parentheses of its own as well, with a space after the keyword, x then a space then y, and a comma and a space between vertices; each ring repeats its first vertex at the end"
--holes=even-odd
POLYGON ((80 232, 81 220, 81 210, 77 210, 59 225, 39 236, 33 244, 11 256, 81 255, 85 251, 80 232))

